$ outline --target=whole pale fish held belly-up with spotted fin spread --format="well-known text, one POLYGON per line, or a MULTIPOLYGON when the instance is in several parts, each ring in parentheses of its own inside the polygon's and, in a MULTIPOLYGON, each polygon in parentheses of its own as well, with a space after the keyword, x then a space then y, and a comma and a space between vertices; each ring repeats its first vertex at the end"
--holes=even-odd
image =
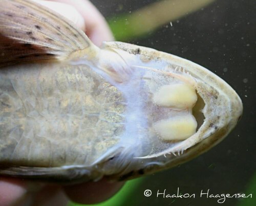
POLYGON ((175 167, 223 140, 239 95, 152 48, 93 42, 29 0, 0 0, 0 174, 77 183, 175 167))

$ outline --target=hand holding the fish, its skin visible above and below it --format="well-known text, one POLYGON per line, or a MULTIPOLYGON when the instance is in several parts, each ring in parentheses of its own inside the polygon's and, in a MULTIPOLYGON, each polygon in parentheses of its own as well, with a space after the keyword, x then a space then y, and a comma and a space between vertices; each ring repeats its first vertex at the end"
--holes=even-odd
MULTIPOLYGON (((91 2, 87 0, 54 0, 44 1, 42 4, 60 14, 67 14, 66 17, 85 31, 96 45, 99 46, 102 41, 114 40, 104 17, 91 2), (65 5, 59 3, 65 3, 65 5)), ((96 183, 61 186, 0 177, 0 205, 66 205, 68 200, 91 204, 110 198, 122 186, 122 182, 110 183, 105 179, 96 183)))

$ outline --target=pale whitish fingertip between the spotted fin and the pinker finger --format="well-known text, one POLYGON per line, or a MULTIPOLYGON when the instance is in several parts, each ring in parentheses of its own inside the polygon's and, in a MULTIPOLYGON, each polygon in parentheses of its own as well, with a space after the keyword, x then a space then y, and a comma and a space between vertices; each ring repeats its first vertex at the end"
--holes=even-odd
POLYGON ((81 30, 85 31, 86 23, 84 22, 84 18, 75 9, 74 6, 60 3, 60 2, 52 2, 52 1, 38 1, 38 0, 34 0, 34 1, 65 16, 67 19, 74 22, 81 30))

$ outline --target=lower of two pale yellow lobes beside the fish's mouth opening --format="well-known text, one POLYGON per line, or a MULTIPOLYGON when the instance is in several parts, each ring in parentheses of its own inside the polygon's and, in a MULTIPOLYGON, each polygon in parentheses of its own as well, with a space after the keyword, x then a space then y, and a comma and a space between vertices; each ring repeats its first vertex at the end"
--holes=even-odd
POLYGON ((196 133, 197 121, 191 114, 163 119, 153 125, 163 140, 185 140, 196 133))

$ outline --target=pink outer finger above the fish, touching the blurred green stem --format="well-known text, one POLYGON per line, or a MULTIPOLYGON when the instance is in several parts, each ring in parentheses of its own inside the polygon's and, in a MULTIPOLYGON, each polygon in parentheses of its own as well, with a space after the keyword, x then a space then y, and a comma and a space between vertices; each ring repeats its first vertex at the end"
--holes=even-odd
POLYGON ((96 44, 113 41, 114 37, 104 17, 88 0, 53 0, 74 6, 86 21, 86 34, 96 44))

